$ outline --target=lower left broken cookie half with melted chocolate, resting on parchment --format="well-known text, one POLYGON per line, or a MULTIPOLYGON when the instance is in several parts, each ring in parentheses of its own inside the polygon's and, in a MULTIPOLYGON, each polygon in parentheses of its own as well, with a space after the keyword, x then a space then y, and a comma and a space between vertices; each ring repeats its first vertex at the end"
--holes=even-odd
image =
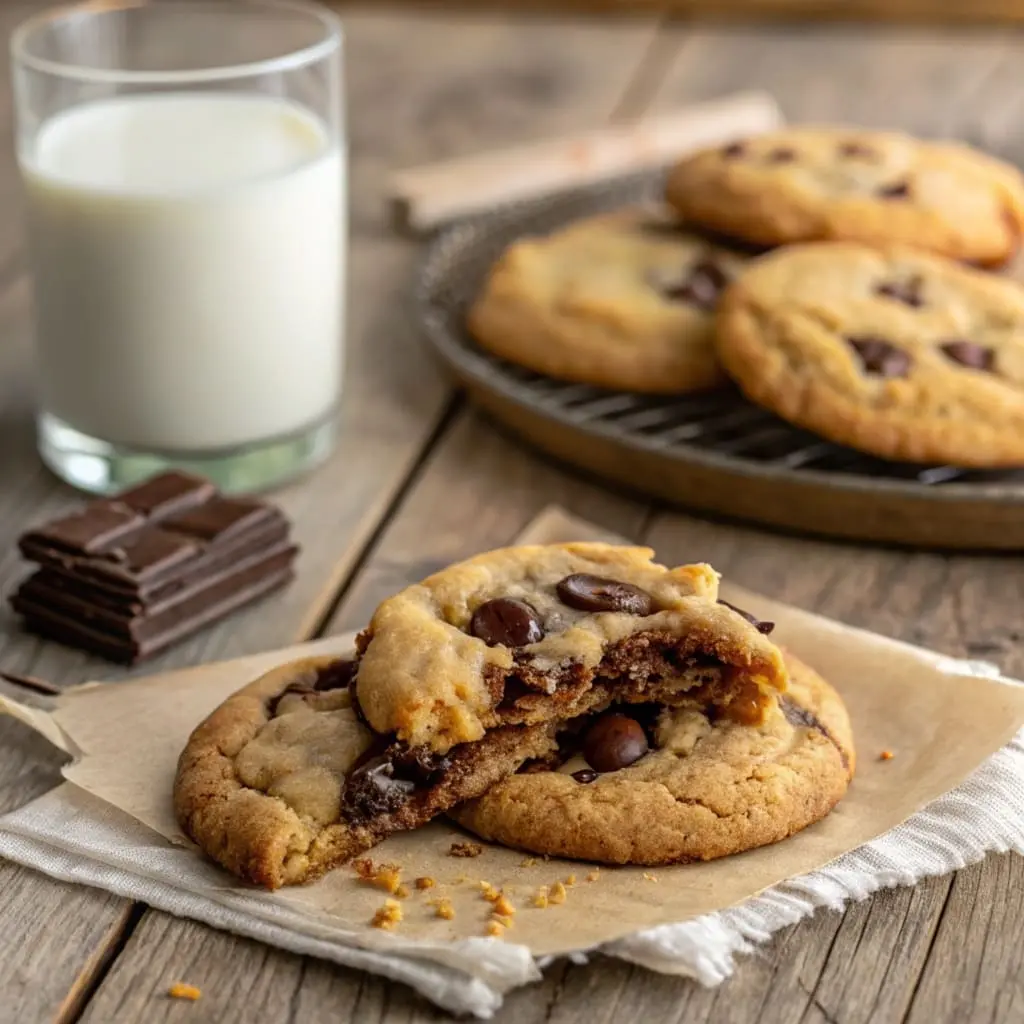
POLYGON ((353 709, 355 663, 305 658, 256 680, 191 735, 174 807, 200 848, 268 889, 312 881, 543 758, 545 725, 494 729, 435 756, 375 735, 353 709))

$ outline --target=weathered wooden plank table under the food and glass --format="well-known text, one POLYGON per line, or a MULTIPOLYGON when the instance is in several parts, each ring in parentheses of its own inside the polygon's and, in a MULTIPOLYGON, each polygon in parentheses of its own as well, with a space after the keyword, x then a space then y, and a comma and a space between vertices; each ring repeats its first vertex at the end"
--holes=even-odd
MULTIPOLYGON (((5 31, 31 5, 5 3, 5 31)), ((341 445, 280 496, 304 547, 282 597, 145 671, 365 623, 428 570, 511 538, 550 502, 745 586, 951 654, 1024 673, 1024 572, 1011 558, 883 551, 709 522, 613 494, 525 451, 467 409, 403 308, 420 252, 389 229, 384 172, 713 97, 772 90, 793 119, 955 134, 1024 159, 1024 42, 965 30, 698 28, 672 20, 346 13, 352 146, 348 382, 341 445)), ((6 83, 4 70, 3 81, 6 83)), ((10 95, 0 94, 10 124, 10 95)), ((70 492, 33 447, 30 292, 13 161, 0 163, 0 592, 17 534, 70 492)), ((23 635, 0 610, 0 665, 63 686, 110 668, 23 635)), ((13 691, 12 691, 13 692, 13 691)), ((23 697, 24 693, 15 695, 23 697)), ((0 721, 0 811, 58 781, 60 759, 0 721)), ((991 856, 915 889, 820 912, 717 989, 598 961, 560 963, 498 1019, 557 1024, 1021 1020, 1024 860, 991 856)), ((0 863, 0 1021, 413 1022, 444 1015, 401 986, 214 932, 0 863), (198 1004, 165 995, 203 989, 198 1004)))

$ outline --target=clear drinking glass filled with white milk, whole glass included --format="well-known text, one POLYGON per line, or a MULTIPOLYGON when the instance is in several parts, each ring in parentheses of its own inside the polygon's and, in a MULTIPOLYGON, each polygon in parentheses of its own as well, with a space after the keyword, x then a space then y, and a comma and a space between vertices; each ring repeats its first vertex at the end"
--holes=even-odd
POLYGON ((331 451, 346 175, 341 27, 283 0, 65 7, 11 41, 39 450, 110 493, 257 490, 331 451))

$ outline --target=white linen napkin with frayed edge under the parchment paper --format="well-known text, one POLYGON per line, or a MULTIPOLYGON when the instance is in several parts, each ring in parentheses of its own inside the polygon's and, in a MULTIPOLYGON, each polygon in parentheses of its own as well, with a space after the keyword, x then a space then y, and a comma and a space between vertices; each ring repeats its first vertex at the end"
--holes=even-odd
MULTIPOLYGON (((985 663, 939 655, 936 662, 946 672, 998 674, 985 663)), ((1024 854, 1024 730, 962 785, 822 869, 737 906, 638 932, 599 951, 717 985, 735 969, 737 953, 818 907, 838 909, 879 889, 913 885, 1009 850, 1024 854)), ((225 889, 216 867, 69 782, 0 818, 0 856, 269 945, 384 975, 456 1013, 492 1016, 505 992, 538 980, 544 966, 523 946, 487 939, 443 950, 361 948, 357 936, 312 927, 265 894, 225 889)))

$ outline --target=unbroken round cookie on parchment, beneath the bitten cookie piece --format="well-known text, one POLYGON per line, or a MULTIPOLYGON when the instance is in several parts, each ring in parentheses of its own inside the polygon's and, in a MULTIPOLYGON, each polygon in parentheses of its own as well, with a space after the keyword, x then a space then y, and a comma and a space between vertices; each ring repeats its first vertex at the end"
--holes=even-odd
POLYGON ((609 864, 711 860, 824 817, 854 770, 839 694, 787 655, 790 688, 759 725, 694 700, 573 723, 561 762, 529 764, 451 816, 529 853, 609 864))

